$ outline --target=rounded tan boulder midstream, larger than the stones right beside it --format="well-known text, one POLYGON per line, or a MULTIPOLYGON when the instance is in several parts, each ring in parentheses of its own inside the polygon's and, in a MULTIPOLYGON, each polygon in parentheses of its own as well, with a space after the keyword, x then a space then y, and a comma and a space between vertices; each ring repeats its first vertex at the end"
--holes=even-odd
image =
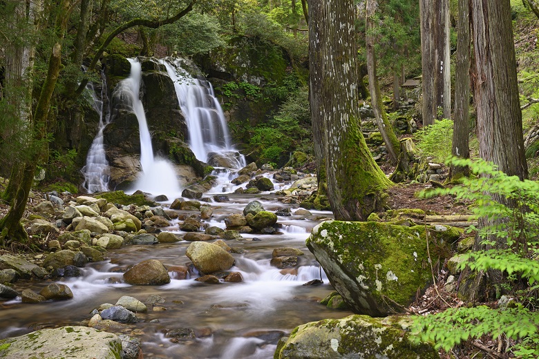
POLYGON ((192 242, 185 254, 198 271, 206 274, 226 271, 234 265, 234 257, 230 253, 208 242, 192 242))

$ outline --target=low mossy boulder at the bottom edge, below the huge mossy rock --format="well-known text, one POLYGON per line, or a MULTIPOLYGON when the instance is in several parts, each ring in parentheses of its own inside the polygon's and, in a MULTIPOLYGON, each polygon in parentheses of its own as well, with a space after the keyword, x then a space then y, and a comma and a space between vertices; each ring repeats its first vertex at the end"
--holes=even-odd
POLYGON ((348 316, 296 327, 281 339, 274 359, 439 358, 432 345, 414 344, 403 329, 409 320, 399 317, 348 316))

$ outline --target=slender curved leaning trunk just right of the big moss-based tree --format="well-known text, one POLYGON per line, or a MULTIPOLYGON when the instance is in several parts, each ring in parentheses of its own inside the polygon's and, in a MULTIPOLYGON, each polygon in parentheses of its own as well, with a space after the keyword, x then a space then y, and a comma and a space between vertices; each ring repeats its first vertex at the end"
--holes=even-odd
MULTIPOLYGON (((372 110, 374 110, 376 123, 378 130, 381 133, 384 143, 386 144, 386 150, 390 157, 391 163, 397 166, 399 161, 399 155, 401 154, 401 145, 393 126, 389 123, 386 110, 384 110, 384 104, 381 100, 380 85, 376 73, 376 53, 375 53, 375 24, 373 17, 375 16, 376 9, 378 7, 377 0, 367 0, 367 12, 366 12, 366 55, 367 55, 367 69, 369 76, 369 91, 370 102, 372 104, 372 110)), ((397 80, 398 83, 398 80, 397 80)))

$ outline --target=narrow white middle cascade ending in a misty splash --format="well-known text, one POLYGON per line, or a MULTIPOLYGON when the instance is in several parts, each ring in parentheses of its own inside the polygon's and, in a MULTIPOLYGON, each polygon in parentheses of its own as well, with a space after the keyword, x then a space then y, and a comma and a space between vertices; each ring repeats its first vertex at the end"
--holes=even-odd
POLYGON ((173 166, 165 159, 153 157, 151 135, 146 122, 144 106, 140 101, 142 66, 137 59, 128 60, 131 63, 131 73, 127 79, 120 81, 118 86, 122 99, 131 105, 139 125, 142 175, 135 182, 132 192, 140 190, 153 195, 164 194, 169 197, 179 197, 181 189, 173 166))

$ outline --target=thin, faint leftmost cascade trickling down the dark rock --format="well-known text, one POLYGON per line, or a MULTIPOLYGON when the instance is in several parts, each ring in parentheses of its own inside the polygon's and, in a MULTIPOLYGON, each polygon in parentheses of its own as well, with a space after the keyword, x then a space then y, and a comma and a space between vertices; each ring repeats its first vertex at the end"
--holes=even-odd
POLYGON ((95 88, 91 82, 86 88, 92 95, 93 108, 100 115, 100 123, 97 127, 97 135, 93 139, 92 145, 86 156, 86 165, 82 168, 84 175, 84 188, 88 193, 108 191, 108 161, 106 160, 105 148, 103 145, 103 130, 111 120, 111 111, 108 108, 108 98, 104 72, 101 72, 101 94, 97 97, 95 88))

